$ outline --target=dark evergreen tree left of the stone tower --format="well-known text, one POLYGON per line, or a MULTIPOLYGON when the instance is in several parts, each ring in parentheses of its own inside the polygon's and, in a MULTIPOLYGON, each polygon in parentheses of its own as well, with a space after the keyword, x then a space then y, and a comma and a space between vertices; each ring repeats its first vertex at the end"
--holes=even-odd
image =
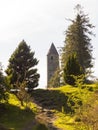
POLYGON ((11 55, 6 73, 12 88, 17 89, 17 84, 23 82, 31 90, 38 86, 39 74, 35 68, 38 60, 34 58, 34 54, 23 40, 11 55))

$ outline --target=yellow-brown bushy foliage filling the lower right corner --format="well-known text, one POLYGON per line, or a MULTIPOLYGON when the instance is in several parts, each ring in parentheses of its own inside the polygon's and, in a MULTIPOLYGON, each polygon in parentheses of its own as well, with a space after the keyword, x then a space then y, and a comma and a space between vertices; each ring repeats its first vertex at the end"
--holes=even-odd
MULTIPOLYGON (((80 118, 80 122, 77 122, 76 128, 79 126, 84 127, 85 130, 97 130, 98 128, 98 92, 96 91, 85 102, 80 111, 76 113, 80 118)), ((80 129, 79 129, 80 130, 80 129)))

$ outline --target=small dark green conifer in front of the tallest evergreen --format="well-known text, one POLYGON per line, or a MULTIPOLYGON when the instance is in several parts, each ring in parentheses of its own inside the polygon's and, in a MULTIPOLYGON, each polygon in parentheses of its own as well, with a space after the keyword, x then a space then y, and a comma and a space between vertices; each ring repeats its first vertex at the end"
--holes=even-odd
POLYGON ((64 81, 67 84, 75 85, 75 76, 83 74, 83 70, 78 63, 76 55, 71 55, 67 59, 66 65, 64 67, 64 81))

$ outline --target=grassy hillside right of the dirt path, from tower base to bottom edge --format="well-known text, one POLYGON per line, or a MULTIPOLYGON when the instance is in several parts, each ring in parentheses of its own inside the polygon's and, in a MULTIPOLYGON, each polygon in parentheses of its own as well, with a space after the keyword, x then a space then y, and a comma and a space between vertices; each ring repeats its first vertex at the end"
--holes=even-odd
MULTIPOLYGON (((53 121, 54 126, 63 130, 77 130, 76 111, 88 102, 97 89, 95 84, 84 85, 82 88, 66 85, 60 88, 34 90, 32 97, 43 110, 53 110, 56 117, 53 121)), ((82 130, 82 127, 78 129, 82 130)), ((86 129, 83 127, 83 130, 86 129)))

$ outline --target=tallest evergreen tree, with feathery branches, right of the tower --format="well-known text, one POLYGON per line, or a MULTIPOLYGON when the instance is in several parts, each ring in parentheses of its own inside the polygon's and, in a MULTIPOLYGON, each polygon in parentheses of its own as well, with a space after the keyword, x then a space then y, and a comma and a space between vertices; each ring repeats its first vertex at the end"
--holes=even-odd
POLYGON ((90 35, 93 35, 91 29, 94 27, 89 23, 88 15, 85 15, 80 5, 76 6, 77 15, 72 24, 66 31, 65 44, 62 49, 62 66, 65 65, 68 57, 73 53, 77 54, 78 62, 84 73, 93 67, 92 64, 92 45, 90 35))

